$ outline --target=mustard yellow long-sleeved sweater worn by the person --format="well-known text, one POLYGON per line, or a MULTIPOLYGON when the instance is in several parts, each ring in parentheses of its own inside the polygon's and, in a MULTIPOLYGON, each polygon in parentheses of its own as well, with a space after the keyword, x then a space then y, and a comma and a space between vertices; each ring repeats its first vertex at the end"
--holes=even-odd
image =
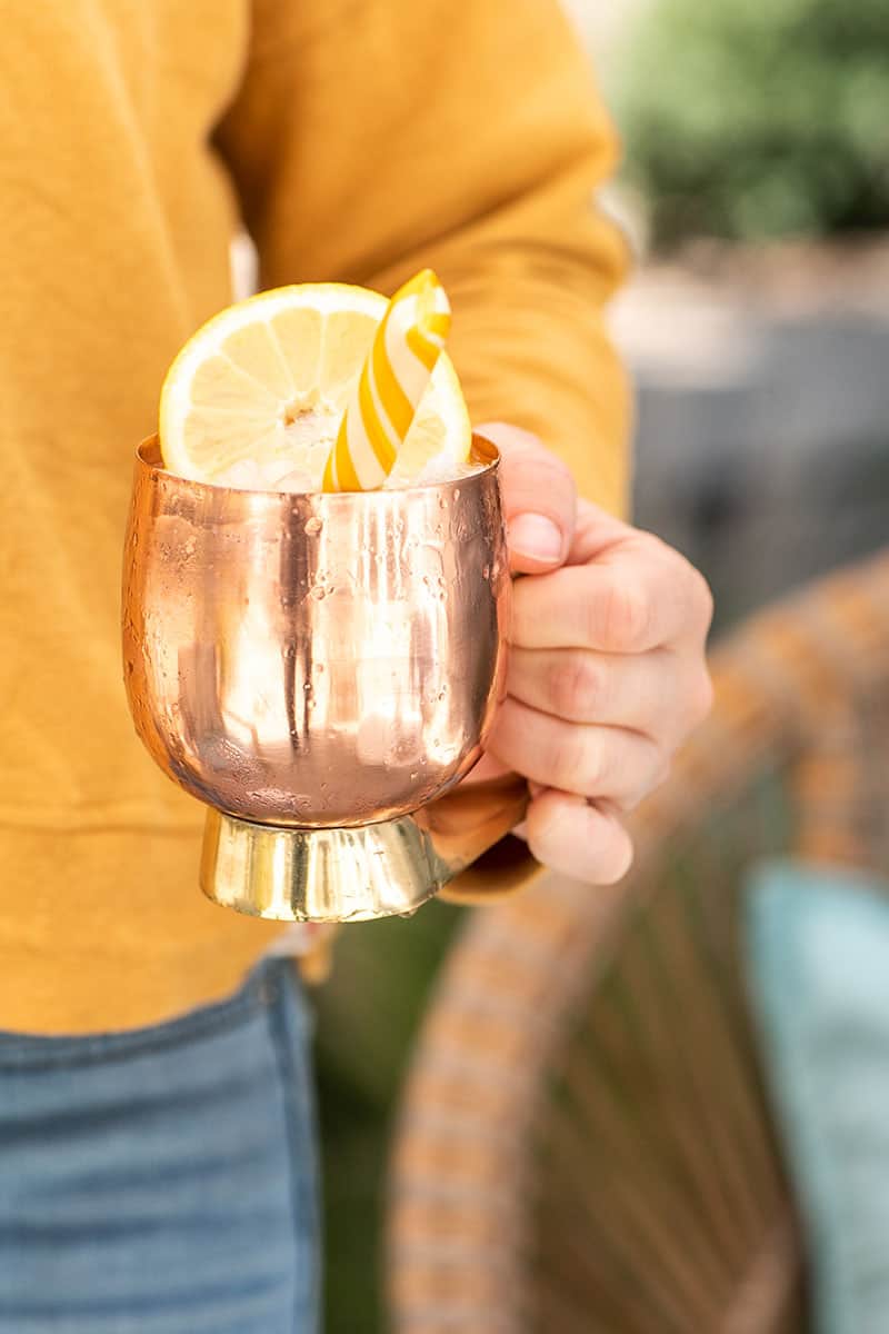
POLYGON ((613 137, 556 0, 15 4, 0 88, 0 1027, 120 1029, 229 992, 280 930, 201 896, 203 808, 121 686, 133 448, 232 236, 264 287, 433 265, 474 420, 617 510, 613 137))

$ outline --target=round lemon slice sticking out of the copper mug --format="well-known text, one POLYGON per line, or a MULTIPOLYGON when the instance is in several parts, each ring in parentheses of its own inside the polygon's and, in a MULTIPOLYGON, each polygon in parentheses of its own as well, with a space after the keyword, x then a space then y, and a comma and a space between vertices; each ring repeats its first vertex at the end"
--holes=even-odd
MULTIPOLYGON (((387 299, 363 287, 279 287, 231 305, 183 347, 160 399, 164 466, 227 482, 243 464, 299 474, 320 487, 349 388, 387 299)), ((392 480, 432 467, 458 472, 470 427, 460 382, 443 355, 399 451, 392 480)))

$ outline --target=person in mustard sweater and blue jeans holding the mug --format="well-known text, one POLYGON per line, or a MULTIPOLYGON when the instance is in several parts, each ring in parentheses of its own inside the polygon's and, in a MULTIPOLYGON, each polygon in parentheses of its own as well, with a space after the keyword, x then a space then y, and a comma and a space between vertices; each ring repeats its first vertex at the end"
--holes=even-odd
POLYGON ((0 1334, 308 1331, 307 1007, 281 926, 193 888, 203 812, 133 734, 131 446, 241 224, 263 287, 433 267, 525 576, 476 775, 528 779, 528 854, 454 891, 620 876, 710 599, 625 518, 614 136, 556 0, 47 0, 0 73, 0 1334))

